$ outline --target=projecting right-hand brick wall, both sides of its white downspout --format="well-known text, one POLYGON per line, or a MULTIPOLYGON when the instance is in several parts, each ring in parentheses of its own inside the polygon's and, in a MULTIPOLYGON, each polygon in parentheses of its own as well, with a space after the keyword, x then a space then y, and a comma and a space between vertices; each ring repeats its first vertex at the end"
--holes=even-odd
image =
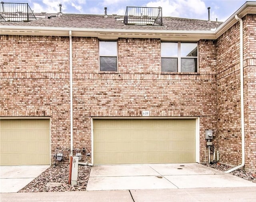
MULTIPOLYGON (((246 169, 256 168, 255 129, 255 15, 244 20, 244 115, 246 169)), ((240 24, 237 22, 217 40, 218 136, 220 161, 239 165, 241 159, 240 24)))

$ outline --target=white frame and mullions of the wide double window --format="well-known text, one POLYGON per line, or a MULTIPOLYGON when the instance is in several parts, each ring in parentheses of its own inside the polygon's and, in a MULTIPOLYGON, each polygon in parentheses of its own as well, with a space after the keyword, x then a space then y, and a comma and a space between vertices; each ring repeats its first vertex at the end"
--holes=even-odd
MULTIPOLYGON (((177 58, 178 60, 178 72, 182 72, 181 71, 181 59, 182 58, 197 58, 197 62, 196 62, 196 72, 198 72, 198 42, 183 42, 183 41, 173 41, 173 42, 161 42, 162 43, 178 43, 178 56, 169 56, 169 57, 162 57, 161 58, 177 58), (197 44, 197 56, 181 56, 181 44, 182 43, 193 43, 193 44, 197 44)), ((162 65, 161 65, 161 72, 162 72, 162 65)), ((164 72, 162 72, 164 73, 164 72)), ((166 73, 174 73, 174 72, 166 72, 166 73)), ((193 73, 193 72, 183 72, 183 73, 193 73)))

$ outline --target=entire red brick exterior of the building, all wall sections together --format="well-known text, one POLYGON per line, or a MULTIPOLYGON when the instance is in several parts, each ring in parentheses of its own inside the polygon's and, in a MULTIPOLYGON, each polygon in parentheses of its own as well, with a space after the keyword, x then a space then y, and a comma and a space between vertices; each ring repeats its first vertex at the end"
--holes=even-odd
MULTIPOLYGON (((244 27, 246 168, 255 168, 255 15, 244 27)), ((198 42, 198 73, 161 73, 160 44, 119 38, 118 72, 106 73, 99 72, 98 38, 72 38, 74 148, 92 152, 92 117, 136 118, 150 110, 155 118, 200 117, 200 162, 212 129, 220 162, 239 164, 239 24, 198 42)), ((49 116, 52 154, 70 148, 69 38, 1 35, 0 46, 0 116, 49 116)))

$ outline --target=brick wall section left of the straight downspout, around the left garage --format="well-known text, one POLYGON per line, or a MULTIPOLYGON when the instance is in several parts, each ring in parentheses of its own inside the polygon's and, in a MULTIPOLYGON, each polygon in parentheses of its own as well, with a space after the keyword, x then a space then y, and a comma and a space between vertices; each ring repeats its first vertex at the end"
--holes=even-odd
POLYGON ((0 116, 48 116, 52 154, 70 148, 69 38, 1 36, 0 58, 0 116))

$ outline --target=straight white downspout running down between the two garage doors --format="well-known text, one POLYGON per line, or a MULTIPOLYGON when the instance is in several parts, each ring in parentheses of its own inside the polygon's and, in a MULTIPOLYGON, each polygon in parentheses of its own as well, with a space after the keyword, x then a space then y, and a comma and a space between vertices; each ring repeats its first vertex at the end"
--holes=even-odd
POLYGON ((69 31, 69 61, 70 61, 70 156, 73 156, 73 71, 72 71, 72 31, 69 31))

